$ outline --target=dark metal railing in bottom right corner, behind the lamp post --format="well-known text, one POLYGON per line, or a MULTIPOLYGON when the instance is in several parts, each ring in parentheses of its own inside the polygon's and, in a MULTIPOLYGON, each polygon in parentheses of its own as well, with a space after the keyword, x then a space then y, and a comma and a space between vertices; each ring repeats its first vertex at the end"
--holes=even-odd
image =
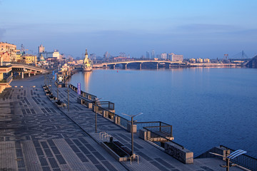
MULTIPOLYGON (((224 147, 227 150, 230 150, 231 153, 236 151, 224 145, 220 145, 220 147, 224 147)), ((257 171, 257 159, 249 155, 239 155, 238 157, 231 159, 231 162, 236 163, 242 167, 246 167, 249 170, 257 171)))

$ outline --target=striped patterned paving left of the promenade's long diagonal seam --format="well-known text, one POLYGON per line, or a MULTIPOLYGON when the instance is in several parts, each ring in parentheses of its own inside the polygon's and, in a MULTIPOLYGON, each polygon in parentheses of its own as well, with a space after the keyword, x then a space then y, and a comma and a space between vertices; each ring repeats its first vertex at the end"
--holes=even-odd
POLYGON ((0 95, 0 170, 126 170, 51 101, 42 88, 0 95))

